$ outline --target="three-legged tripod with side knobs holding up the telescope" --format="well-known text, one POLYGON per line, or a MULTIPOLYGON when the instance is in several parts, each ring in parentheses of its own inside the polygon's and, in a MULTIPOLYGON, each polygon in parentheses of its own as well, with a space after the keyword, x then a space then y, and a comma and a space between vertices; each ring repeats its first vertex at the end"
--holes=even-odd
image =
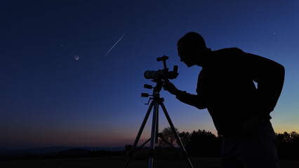
MULTIPOLYGON (((164 114, 168 120, 168 123, 169 125, 171 126, 171 130, 173 131, 173 134, 175 135, 175 139, 177 140, 178 142, 178 145, 180 146, 180 149, 182 151, 180 151, 180 153, 182 153, 182 155, 185 156, 185 159, 187 160, 187 164, 189 165, 190 168, 193 168, 192 166, 192 163, 190 161, 190 158, 189 156, 187 155, 187 151, 185 150, 185 147, 182 145, 182 141, 180 141, 180 137, 178 136, 178 132, 175 130, 175 127, 171 121, 171 118, 170 116, 168 115, 167 111, 166 111, 166 108, 163 104, 164 102, 164 99, 163 98, 160 98, 160 90, 163 86, 163 84, 165 83, 165 81, 163 80, 153 80, 154 82, 157 83, 157 85, 154 87, 154 92, 153 92, 153 95, 151 95, 152 97, 150 97, 150 100, 147 104, 150 103, 150 101, 152 100, 151 104, 150 104, 150 107, 149 109, 147 110, 147 113, 145 115, 145 118, 142 122, 142 125, 140 127, 140 130, 137 134, 137 137, 134 141, 134 144, 131 148, 131 151, 128 155, 128 158, 126 160, 126 164, 124 165, 124 168, 128 167, 128 162, 131 160, 131 158, 133 158, 133 153, 135 152, 135 148, 138 144, 138 141, 140 139, 140 136, 142 134, 142 131, 145 127, 145 124, 147 123, 147 119, 149 118, 150 116, 150 113, 152 111, 152 109, 154 108, 153 110, 153 116, 152 116, 152 132, 151 132, 151 137, 150 139, 148 139, 147 141, 145 141, 144 144, 142 144, 140 146, 140 148, 142 148, 142 146, 145 146, 145 144, 147 144, 147 142, 150 141, 150 153, 149 153, 149 162, 148 162, 148 168, 152 168, 153 167, 153 162, 154 162, 154 146, 155 144, 158 143, 158 137, 160 137, 163 141, 165 141, 167 144, 173 146, 172 144, 168 143, 165 139, 163 139, 163 137, 159 136, 161 134, 158 134, 159 132, 159 106, 161 106, 161 108, 163 109, 164 111, 164 114)), ((152 85, 145 85, 145 88, 148 88, 148 89, 152 89, 152 85)), ((149 97, 150 95, 147 94, 147 93, 142 93, 141 94, 142 97, 149 97)), ((174 147, 173 147, 174 148, 174 147)))

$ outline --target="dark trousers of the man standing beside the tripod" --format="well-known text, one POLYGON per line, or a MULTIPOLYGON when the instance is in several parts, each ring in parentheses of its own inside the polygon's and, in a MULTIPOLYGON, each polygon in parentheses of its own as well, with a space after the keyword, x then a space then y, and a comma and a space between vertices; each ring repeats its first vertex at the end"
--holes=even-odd
POLYGON ((270 121, 254 134, 223 137, 220 162, 222 168, 278 168, 277 139, 270 121))

